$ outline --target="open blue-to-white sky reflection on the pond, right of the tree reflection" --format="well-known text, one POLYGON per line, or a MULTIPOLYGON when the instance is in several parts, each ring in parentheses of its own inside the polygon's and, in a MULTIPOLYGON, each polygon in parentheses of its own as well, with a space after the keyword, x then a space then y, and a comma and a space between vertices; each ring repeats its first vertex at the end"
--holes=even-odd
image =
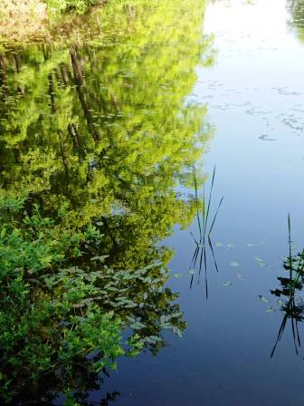
POLYGON ((167 244, 176 252, 171 269, 183 276, 170 285, 180 292, 185 337, 168 337, 157 357, 123 360, 105 386, 120 391, 117 404, 303 403, 303 353, 295 353, 289 322, 271 359, 283 314, 270 290, 286 272, 288 212, 292 239, 304 244, 303 21, 292 21, 289 5, 232 0, 207 8, 203 30, 218 52, 214 67, 198 69, 191 97, 208 104, 215 127, 202 160, 209 174, 216 163, 214 201, 224 196, 212 237, 219 273, 208 256, 208 301, 204 278, 189 289, 190 231, 198 229, 176 228, 167 244))

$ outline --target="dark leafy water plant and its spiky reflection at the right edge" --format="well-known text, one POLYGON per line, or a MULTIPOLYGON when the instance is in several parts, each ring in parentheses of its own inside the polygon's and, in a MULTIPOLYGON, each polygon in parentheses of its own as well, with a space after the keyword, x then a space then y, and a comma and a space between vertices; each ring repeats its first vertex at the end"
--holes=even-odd
POLYGON ((292 339, 295 351, 299 353, 301 345, 299 334, 299 323, 304 321, 304 302, 299 297, 299 292, 303 289, 304 284, 304 252, 296 256, 284 259, 284 268, 289 272, 289 277, 279 276, 280 289, 271 291, 272 295, 279 297, 280 310, 284 314, 280 329, 277 335, 276 343, 273 346, 271 357, 274 355, 285 328, 290 320, 292 339))

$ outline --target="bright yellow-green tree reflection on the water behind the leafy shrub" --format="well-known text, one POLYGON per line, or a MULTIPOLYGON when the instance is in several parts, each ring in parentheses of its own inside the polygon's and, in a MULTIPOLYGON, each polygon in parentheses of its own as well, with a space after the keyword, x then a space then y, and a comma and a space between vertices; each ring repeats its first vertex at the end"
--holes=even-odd
MULTIPOLYGON (((210 134, 201 131, 204 107, 185 104, 185 96, 201 56, 212 63, 211 40, 201 34, 204 4, 158 3, 125 8, 117 42, 116 32, 105 41, 89 35, 0 58, 3 189, 16 197, 27 190, 27 211, 38 203, 59 229, 100 231, 68 266, 103 269, 101 308, 118 314, 153 353, 166 345, 164 329, 185 328, 177 296, 165 287, 172 252, 158 243, 194 216, 193 202, 179 197, 176 186, 188 181, 210 134), (101 264, 91 261, 100 253, 101 264), (128 281, 119 278, 127 275, 121 270, 128 281)), ((117 18, 115 9, 100 13, 112 23, 117 18)), ((95 17, 92 31, 100 29, 95 17)), ((100 375, 93 376, 89 360, 81 365, 71 388, 96 390, 100 375)), ((30 404, 42 401, 42 388, 61 391, 55 375, 47 378, 48 387, 45 377, 24 387, 25 397, 36 393, 30 404)))

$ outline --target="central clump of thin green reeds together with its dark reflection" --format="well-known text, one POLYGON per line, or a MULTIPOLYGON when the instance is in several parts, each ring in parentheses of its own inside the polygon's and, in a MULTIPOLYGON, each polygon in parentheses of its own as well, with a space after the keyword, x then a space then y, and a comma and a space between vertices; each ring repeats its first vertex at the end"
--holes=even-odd
POLYGON ((195 238, 192 232, 190 232, 191 236, 195 241, 195 253, 192 257, 189 274, 192 275, 191 282, 190 282, 190 289, 193 285, 194 276, 195 276, 195 266, 198 262, 198 283, 200 280, 200 275, 202 272, 202 267, 204 264, 204 283, 205 283, 205 295, 206 299, 208 298, 208 278, 207 278, 207 254, 206 254, 206 240, 208 240, 208 246, 210 247, 210 251, 214 260, 214 266, 216 272, 218 272, 218 267, 216 263, 216 259, 214 256, 214 248, 211 241, 211 234, 214 229, 215 220, 217 218, 219 209, 223 203, 223 197, 220 199, 220 202, 214 212, 214 216, 211 217, 211 210, 212 210, 212 195, 214 190, 214 179, 215 179, 215 165, 213 171, 213 177, 211 181, 211 187, 209 196, 207 197, 205 188, 203 185, 203 199, 200 200, 198 196, 198 188, 197 188, 197 180, 196 176, 194 175, 194 182, 195 182, 195 205, 196 205, 196 220, 199 229, 199 237, 195 238), (210 226, 209 226, 210 225, 210 226))

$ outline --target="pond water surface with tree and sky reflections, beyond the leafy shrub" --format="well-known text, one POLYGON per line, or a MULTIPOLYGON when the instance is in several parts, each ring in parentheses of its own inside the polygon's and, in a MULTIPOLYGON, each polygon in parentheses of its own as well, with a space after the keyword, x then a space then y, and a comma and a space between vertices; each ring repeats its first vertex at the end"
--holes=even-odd
POLYGON ((105 7, 6 45, 0 182, 50 216, 61 201, 71 221, 101 218, 107 266, 170 270, 157 299, 129 286, 150 304, 128 314, 147 349, 90 401, 300 405, 304 306, 284 257, 289 213, 292 257, 304 247, 304 3, 198 3, 105 7), (223 204, 204 249, 194 168, 201 201, 214 166, 212 216, 223 204))

